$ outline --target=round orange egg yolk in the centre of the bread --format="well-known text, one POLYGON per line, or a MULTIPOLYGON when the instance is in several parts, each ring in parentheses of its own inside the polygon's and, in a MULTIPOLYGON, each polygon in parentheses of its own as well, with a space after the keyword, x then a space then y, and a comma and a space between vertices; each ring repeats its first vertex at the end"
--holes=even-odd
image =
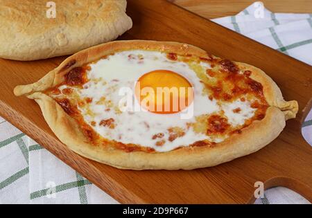
POLYGON ((139 78, 135 96, 153 113, 178 113, 193 102, 191 83, 173 71, 157 70, 139 78))

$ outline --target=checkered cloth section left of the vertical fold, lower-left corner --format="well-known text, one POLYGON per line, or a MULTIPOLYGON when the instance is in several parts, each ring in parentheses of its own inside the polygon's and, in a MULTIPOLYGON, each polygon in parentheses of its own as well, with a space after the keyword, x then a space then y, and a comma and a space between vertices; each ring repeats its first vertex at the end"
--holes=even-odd
POLYGON ((0 203, 29 203, 28 137, 0 117, 0 203))

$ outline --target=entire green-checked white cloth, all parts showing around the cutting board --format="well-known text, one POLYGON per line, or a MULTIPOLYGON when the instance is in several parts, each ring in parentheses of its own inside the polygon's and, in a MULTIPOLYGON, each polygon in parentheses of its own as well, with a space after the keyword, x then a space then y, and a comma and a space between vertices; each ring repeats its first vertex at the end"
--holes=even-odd
MULTIPOLYGON (((277 14, 254 3, 213 21, 312 65, 312 15, 277 14)), ((312 112, 302 132, 312 144, 312 112)), ((0 118, 0 203, 118 203, 53 154, 0 118)), ((256 203, 309 203, 286 188, 256 203)))

